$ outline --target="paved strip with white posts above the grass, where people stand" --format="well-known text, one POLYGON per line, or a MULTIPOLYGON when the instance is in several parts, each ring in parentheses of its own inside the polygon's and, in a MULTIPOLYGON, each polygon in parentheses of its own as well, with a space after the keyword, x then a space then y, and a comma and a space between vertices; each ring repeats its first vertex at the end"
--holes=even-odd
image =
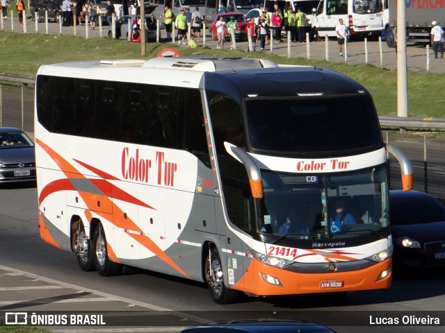
MULTIPOLYGON (((81 38, 108 38, 108 26, 97 26, 94 31, 91 31, 89 26, 61 26, 55 22, 41 22, 35 24, 31 19, 26 20, 24 26, 19 26, 17 18, 12 22, 10 19, 3 20, 1 23, 1 30, 14 31, 15 33, 43 33, 50 35, 76 35, 81 38)), ((212 40, 211 33, 206 28, 206 40, 205 46, 216 49, 216 40, 212 40)), ((166 37, 165 30, 161 31, 160 40, 166 37)), ((122 41, 125 42, 125 41, 122 41)), ((177 49, 188 48, 188 45, 178 45, 172 42, 163 42, 165 47, 172 46, 173 44, 177 49)), ((201 37, 200 42, 197 43, 198 47, 196 52, 200 51, 199 46, 203 46, 203 40, 201 37)), ((230 42, 225 42, 225 49, 227 49, 227 56, 231 52, 229 50, 230 42)), ((236 49, 248 51, 248 42, 237 42, 236 49)), ((261 57, 261 53, 273 53, 283 57, 289 58, 306 58, 309 60, 328 60, 332 62, 346 62, 349 65, 363 65, 369 64, 376 67, 382 67, 385 69, 395 70, 397 68, 397 58, 395 49, 391 49, 387 46, 385 41, 379 42, 376 37, 370 40, 352 40, 348 42, 347 53, 343 51, 343 56, 339 55, 337 40, 322 40, 320 42, 309 43, 295 43, 288 44, 286 37, 283 36, 283 42, 279 44, 266 45, 265 51, 258 51, 259 45, 257 45, 256 53, 261 57)), ((445 73, 445 59, 434 59, 431 47, 425 45, 408 45, 406 48, 407 54, 407 68, 411 71, 417 72, 432 72, 432 73, 445 73)))

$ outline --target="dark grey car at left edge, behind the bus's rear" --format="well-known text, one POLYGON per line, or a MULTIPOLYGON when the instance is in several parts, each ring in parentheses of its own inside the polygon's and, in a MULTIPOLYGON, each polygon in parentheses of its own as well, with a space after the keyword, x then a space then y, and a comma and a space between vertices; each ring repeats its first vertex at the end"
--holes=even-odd
POLYGON ((0 127, 0 183, 35 180, 34 143, 22 130, 0 127))

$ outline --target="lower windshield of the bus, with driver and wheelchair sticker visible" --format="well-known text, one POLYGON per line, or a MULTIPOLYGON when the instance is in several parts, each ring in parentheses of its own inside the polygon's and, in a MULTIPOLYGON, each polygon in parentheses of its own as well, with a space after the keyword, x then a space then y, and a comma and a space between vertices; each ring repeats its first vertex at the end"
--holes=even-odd
POLYGON ((385 166, 349 173, 262 171, 258 230, 295 239, 346 239, 389 225, 385 166))

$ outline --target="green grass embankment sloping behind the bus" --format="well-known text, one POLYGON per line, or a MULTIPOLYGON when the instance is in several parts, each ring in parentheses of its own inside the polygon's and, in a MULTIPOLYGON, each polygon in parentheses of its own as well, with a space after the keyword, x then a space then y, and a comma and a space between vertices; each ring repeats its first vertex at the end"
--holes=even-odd
MULTIPOLYGON (((0 72, 35 76, 40 65, 56 62, 152 58, 172 44, 149 43, 146 56, 140 56, 140 44, 108 38, 85 40, 81 37, 0 32, 0 72)), ((268 53, 246 53, 242 50, 216 50, 198 46, 196 49, 178 48, 183 56, 201 51, 200 56, 230 56, 267 58, 289 65, 329 67, 357 80, 371 92, 380 115, 397 114, 396 71, 373 65, 352 66, 339 62, 286 58, 268 53)), ((408 71, 408 100, 410 117, 444 118, 444 74, 425 74, 408 71)))

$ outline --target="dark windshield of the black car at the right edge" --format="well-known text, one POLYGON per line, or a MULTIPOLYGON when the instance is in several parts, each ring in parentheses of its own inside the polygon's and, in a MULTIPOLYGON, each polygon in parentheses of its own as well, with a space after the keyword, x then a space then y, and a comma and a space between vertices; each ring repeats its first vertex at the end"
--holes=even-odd
POLYGON ((445 221, 445 206, 430 196, 391 198, 390 209, 392 225, 445 221))

